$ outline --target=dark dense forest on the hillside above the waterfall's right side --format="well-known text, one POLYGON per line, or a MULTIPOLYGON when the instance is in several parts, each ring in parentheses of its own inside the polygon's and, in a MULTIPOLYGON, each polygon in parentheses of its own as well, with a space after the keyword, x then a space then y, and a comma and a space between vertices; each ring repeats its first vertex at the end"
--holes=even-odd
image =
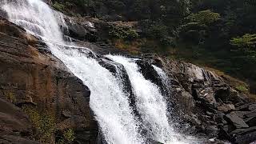
POLYGON ((76 17, 138 22, 139 30, 114 27, 110 39, 131 53, 214 67, 246 80, 255 93, 254 0, 54 0, 53 6, 76 17))

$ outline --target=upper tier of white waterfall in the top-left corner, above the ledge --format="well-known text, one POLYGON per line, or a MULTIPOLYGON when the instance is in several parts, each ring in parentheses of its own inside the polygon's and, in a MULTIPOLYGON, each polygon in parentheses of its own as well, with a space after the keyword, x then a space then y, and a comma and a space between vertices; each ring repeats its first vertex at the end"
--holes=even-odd
POLYGON ((10 22, 24 27, 30 34, 50 42, 63 43, 53 10, 46 3, 40 0, 6 0, 2 9, 6 10, 10 22))

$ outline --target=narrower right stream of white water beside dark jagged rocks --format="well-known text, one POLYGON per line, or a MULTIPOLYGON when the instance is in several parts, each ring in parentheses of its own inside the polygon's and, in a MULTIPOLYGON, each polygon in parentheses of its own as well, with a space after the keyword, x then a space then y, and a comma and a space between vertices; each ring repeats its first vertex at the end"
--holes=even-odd
POLYGON ((148 137, 158 142, 178 142, 177 138, 182 137, 174 132, 168 122, 166 102, 158 86, 143 77, 135 63, 136 59, 114 55, 106 57, 121 63, 126 68, 136 97, 136 106, 142 115, 148 137))

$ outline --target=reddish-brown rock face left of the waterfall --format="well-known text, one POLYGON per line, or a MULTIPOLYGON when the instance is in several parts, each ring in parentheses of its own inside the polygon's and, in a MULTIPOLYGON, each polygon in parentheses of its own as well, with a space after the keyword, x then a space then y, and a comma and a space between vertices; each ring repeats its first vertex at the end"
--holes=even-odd
MULTIPOLYGON (((37 143, 37 127, 28 117, 31 111, 21 110, 28 106, 35 114, 50 114, 56 133, 72 129, 75 141, 96 142, 98 128, 88 87, 43 42, 4 18, 0 18, 0 74, 0 143, 37 143)), ((48 142, 54 141, 50 137, 48 142)))

